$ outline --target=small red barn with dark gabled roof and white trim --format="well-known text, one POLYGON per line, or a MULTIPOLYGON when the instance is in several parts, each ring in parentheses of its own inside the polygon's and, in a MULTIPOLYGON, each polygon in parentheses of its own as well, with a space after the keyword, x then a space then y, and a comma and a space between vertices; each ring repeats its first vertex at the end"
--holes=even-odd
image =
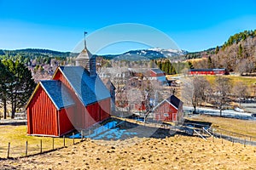
POLYGON ((155 121, 181 122, 183 120, 183 102, 172 95, 153 108, 155 121))

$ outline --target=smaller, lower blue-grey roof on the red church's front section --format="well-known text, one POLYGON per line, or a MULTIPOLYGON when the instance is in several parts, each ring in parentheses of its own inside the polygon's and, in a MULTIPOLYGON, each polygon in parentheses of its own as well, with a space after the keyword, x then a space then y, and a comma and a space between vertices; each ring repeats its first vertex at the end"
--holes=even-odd
POLYGON ((39 82, 49 99, 54 103, 57 110, 74 105, 75 102, 69 94, 67 87, 58 80, 47 80, 39 82))

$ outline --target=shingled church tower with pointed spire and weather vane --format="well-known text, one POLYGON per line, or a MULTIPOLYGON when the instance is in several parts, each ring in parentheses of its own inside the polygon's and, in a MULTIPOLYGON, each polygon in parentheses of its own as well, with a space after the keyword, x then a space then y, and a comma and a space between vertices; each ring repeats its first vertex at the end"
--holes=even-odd
POLYGON ((76 58, 76 66, 83 66, 87 71, 90 72, 90 77, 95 77, 96 76, 96 56, 90 54, 90 51, 86 47, 86 39, 85 39, 86 34, 87 32, 84 32, 84 49, 76 58))

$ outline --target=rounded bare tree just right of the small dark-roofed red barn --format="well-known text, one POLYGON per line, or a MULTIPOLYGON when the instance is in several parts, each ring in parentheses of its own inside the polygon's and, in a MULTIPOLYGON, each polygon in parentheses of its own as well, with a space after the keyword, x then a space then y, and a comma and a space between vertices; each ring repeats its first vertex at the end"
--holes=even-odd
POLYGON ((196 113, 196 107, 207 99, 207 91, 210 84, 205 77, 189 77, 183 82, 183 98, 187 99, 194 107, 193 113, 196 113))

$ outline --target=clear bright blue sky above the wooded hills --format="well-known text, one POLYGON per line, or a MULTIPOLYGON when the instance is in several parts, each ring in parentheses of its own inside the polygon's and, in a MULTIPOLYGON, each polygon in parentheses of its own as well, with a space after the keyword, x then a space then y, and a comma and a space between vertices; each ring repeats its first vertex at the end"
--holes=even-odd
MULTIPOLYGON (((90 36, 105 26, 122 23, 152 26, 179 48, 198 51, 222 45, 236 32, 256 29, 256 1, 0 0, 0 48, 73 51, 84 30, 90 36)), ((102 54, 131 48, 146 47, 125 42, 109 46, 102 54)))

